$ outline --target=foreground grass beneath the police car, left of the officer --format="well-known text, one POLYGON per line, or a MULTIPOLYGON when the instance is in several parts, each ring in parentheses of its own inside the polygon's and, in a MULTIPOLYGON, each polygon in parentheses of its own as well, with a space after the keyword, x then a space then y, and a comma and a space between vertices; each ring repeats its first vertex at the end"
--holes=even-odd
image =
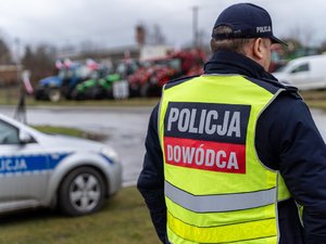
POLYGON ((0 244, 159 244, 135 187, 124 188, 93 215, 71 218, 49 209, 0 217, 0 244))

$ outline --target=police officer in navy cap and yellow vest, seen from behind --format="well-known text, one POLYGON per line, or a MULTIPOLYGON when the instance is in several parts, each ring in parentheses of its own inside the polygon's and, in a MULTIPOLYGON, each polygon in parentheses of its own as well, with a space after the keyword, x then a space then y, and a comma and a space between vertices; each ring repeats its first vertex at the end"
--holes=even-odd
POLYGON ((204 75, 168 82, 138 189, 163 243, 326 243, 326 147, 293 87, 267 68, 269 14, 217 17, 204 75))

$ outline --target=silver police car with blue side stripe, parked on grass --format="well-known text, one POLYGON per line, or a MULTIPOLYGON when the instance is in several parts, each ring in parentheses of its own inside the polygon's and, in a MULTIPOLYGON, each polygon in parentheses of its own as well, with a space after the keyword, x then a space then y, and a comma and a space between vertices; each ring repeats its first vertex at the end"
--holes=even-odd
POLYGON ((86 215, 121 185, 122 166, 108 145, 46 134, 0 114, 0 213, 58 206, 86 215))

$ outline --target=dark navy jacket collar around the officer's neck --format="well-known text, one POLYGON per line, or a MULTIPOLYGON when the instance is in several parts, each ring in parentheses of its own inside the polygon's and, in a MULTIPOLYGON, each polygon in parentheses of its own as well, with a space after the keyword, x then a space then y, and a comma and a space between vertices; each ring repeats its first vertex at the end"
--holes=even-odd
POLYGON ((277 79, 253 60, 236 52, 215 52, 204 65, 205 74, 239 74, 252 78, 277 79))

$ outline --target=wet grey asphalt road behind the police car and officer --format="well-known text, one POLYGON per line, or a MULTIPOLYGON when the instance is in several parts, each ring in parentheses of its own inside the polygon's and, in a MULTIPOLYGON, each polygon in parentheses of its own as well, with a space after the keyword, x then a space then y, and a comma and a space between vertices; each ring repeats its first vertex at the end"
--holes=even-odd
MULTIPOLYGON (((37 107, 27 110, 30 125, 77 127, 106 134, 104 143, 117 151, 124 170, 124 185, 135 184, 145 154, 145 138, 151 107, 37 107)), ((13 116, 14 107, 0 107, 0 113, 13 116)), ((326 141, 326 112, 312 111, 319 131, 326 141)))

